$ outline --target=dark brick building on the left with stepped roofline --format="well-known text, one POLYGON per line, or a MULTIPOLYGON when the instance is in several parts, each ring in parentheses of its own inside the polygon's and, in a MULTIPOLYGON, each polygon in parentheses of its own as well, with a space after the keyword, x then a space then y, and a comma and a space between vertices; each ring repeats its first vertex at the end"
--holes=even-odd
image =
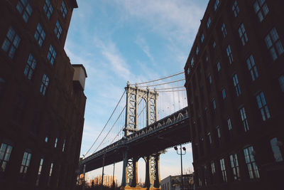
POLYGON ((83 65, 64 51, 76 0, 0 3, 0 189, 73 189, 83 65))

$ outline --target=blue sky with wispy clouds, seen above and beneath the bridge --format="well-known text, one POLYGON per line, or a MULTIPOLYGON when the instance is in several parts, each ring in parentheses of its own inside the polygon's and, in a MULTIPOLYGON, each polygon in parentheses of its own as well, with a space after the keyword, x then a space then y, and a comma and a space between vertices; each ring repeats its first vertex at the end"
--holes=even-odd
MULTIPOLYGON (((87 70, 87 96, 80 157, 91 147, 119 101, 126 82, 138 83, 179 73, 208 0, 77 0, 65 43, 72 64, 87 70)), ((192 171, 191 144, 184 145, 183 171, 192 171)), ((138 161, 138 181, 145 163, 138 161)), ((113 166, 105 168, 112 174, 113 166)), ((121 181, 121 163, 115 174, 121 181)), ((180 174, 173 148, 160 156, 160 179, 180 174)), ((87 178, 102 174, 91 171, 87 178)))

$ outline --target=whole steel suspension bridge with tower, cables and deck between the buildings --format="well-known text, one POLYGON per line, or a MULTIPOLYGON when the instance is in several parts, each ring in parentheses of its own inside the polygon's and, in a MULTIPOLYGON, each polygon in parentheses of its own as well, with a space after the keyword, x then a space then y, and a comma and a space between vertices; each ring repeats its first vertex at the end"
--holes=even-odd
POLYGON ((146 162, 146 189, 160 189, 160 154, 190 142, 184 73, 127 83, 80 172, 123 162, 122 189, 138 189, 138 159, 146 162), (96 147, 96 148, 95 148, 96 147))

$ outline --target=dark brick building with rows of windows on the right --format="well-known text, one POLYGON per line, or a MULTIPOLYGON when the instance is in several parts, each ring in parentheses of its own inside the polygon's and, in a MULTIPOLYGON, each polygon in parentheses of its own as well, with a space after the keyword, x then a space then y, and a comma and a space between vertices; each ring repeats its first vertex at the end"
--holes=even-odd
POLYGON ((185 65, 197 189, 283 189, 283 6, 207 5, 185 65))

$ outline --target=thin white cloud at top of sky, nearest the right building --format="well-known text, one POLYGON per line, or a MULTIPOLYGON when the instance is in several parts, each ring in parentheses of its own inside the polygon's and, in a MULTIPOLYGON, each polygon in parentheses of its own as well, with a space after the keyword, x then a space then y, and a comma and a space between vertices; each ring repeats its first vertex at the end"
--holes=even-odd
POLYGON ((188 36, 195 35, 204 13, 204 8, 197 6, 193 1, 170 0, 126 0, 116 1, 124 6, 129 16, 123 19, 132 19, 133 16, 145 20, 151 30, 180 43, 188 43, 188 36), (186 41, 184 41, 186 40, 186 41))

